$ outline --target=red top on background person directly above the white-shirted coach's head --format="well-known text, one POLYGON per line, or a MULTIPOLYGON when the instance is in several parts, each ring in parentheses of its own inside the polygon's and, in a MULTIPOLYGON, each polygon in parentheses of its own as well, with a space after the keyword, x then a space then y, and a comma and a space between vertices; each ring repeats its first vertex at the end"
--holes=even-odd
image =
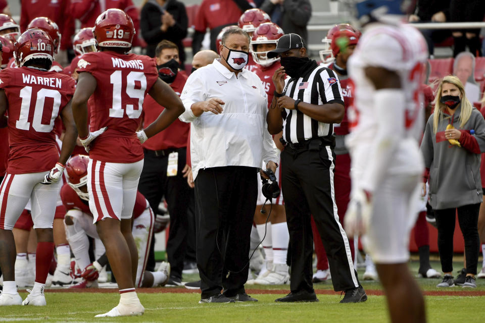
MULTIPOLYGON (((252 4, 252 1, 248 1, 252 4)), ((195 29, 206 32, 222 25, 237 25, 243 12, 233 0, 203 0, 197 10, 195 29)))

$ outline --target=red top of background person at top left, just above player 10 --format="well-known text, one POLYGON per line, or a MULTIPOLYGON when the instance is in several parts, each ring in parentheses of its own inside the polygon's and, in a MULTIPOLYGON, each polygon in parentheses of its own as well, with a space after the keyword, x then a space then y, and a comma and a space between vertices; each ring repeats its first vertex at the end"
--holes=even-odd
MULTIPOLYGON (((72 47, 74 18, 70 13, 69 0, 21 0, 20 30, 24 32, 28 24, 37 17, 47 17, 54 21, 61 32, 61 49, 72 47)), ((93 24, 94 26, 94 24, 93 24)))

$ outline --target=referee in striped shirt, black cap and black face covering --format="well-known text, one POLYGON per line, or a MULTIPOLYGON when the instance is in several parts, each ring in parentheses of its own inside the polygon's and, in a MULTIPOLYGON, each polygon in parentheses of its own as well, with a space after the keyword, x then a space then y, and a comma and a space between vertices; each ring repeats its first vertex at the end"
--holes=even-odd
POLYGON ((307 57, 302 38, 279 38, 268 58, 281 57, 273 75, 275 93, 268 111, 268 131, 283 130, 281 188, 291 245, 291 292, 277 302, 318 301, 312 285, 313 234, 310 215, 327 250, 333 289, 345 291, 341 303, 367 296, 354 269, 349 240, 338 221, 333 172, 332 123, 344 117, 342 88, 335 73, 307 57), (284 74, 289 78, 284 78, 284 74), (303 274, 303 275, 302 275, 303 274))

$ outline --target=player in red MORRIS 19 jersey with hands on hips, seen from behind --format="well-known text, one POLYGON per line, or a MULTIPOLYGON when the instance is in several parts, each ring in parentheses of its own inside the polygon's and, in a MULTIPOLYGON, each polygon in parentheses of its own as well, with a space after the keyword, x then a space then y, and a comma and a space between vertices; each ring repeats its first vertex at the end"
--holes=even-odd
POLYGON ((122 10, 108 9, 96 19, 93 34, 100 51, 86 53, 79 60, 72 104, 79 138, 89 151, 89 208, 120 289, 120 303, 97 317, 144 312, 134 288, 138 257, 131 235, 143 167, 141 143, 184 111, 178 95, 158 78, 155 62, 127 53, 134 33, 131 18, 122 10), (135 133, 147 93, 165 110, 146 129, 135 133), (91 95, 94 105, 89 131, 87 101, 91 95))

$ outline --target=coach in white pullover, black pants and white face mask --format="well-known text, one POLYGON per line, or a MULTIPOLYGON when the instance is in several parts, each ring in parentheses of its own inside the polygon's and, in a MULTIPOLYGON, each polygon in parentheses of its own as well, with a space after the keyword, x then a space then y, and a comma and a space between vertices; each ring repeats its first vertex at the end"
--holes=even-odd
POLYGON ((180 96, 185 112, 179 118, 191 122, 200 303, 256 301, 244 289, 256 173, 262 161, 275 171, 278 156, 266 125, 265 89, 255 73, 244 69, 249 43, 245 31, 227 30, 221 58, 193 72, 180 96))

